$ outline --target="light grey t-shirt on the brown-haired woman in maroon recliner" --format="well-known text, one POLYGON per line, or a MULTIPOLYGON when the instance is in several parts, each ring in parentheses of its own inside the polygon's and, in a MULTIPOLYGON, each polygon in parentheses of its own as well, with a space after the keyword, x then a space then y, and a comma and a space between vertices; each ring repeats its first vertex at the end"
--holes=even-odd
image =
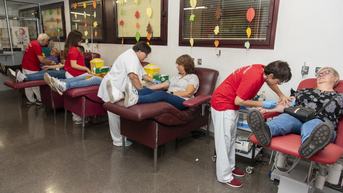
MULTIPOLYGON (((186 75, 184 78, 181 78, 181 76, 182 75, 178 74, 169 79, 170 85, 169 85, 168 91, 173 91, 173 92, 186 91, 188 84, 193 84, 195 88, 194 93, 196 93, 199 88, 198 76, 194 74, 186 75)), ((194 93, 190 98, 194 97, 194 93)), ((184 97, 181 97, 181 98, 185 100, 190 99, 190 98, 184 98, 184 97)))

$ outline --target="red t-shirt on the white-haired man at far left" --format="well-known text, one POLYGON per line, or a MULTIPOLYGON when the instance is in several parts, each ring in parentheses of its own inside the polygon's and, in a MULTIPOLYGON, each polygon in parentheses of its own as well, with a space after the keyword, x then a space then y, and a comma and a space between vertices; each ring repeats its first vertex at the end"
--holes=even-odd
POLYGON ((40 44, 37 40, 33 40, 29 42, 25 48, 22 60, 22 68, 31 71, 40 71, 40 61, 38 60, 37 56, 43 56, 42 47, 40 47, 40 44))

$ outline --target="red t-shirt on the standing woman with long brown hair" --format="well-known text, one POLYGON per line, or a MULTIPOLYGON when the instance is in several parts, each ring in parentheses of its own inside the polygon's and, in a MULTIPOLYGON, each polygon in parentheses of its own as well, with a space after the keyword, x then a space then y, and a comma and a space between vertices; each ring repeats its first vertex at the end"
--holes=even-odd
POLYGON ((76 60, 76 64, 80 66, 85 66, 85 59, 79 52, 79 50, 76 48, 76 46, 73 46, 70 48, 68 54, 66 63, 64 64, 64 70, 70 73, 71 76, 79 76, 85 73, 83 70, 77 70, 71 67, 70 60, 76 60))

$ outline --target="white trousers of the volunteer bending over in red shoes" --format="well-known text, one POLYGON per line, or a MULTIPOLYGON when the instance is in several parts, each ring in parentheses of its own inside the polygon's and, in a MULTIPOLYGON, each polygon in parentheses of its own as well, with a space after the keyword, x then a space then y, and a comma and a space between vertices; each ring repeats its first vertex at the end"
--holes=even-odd
POLYGON ((230 182, 235 169, 235 139, 238 122, 238 111, 216 111, 211 109, 214 125, 214 144, 217 154, 217 180, 230 182))

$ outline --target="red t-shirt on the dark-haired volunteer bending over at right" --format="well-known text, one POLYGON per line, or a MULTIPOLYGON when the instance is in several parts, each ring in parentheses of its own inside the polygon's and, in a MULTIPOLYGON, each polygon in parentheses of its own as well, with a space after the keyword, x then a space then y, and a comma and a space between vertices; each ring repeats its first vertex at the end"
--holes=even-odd
POLYGON ((253 99, 265 82, 261 64, 245 66, 235 70, 213 92, 211 106, 217 111, 239 110, 235 105, 238 95, 243 100, 253 99))

